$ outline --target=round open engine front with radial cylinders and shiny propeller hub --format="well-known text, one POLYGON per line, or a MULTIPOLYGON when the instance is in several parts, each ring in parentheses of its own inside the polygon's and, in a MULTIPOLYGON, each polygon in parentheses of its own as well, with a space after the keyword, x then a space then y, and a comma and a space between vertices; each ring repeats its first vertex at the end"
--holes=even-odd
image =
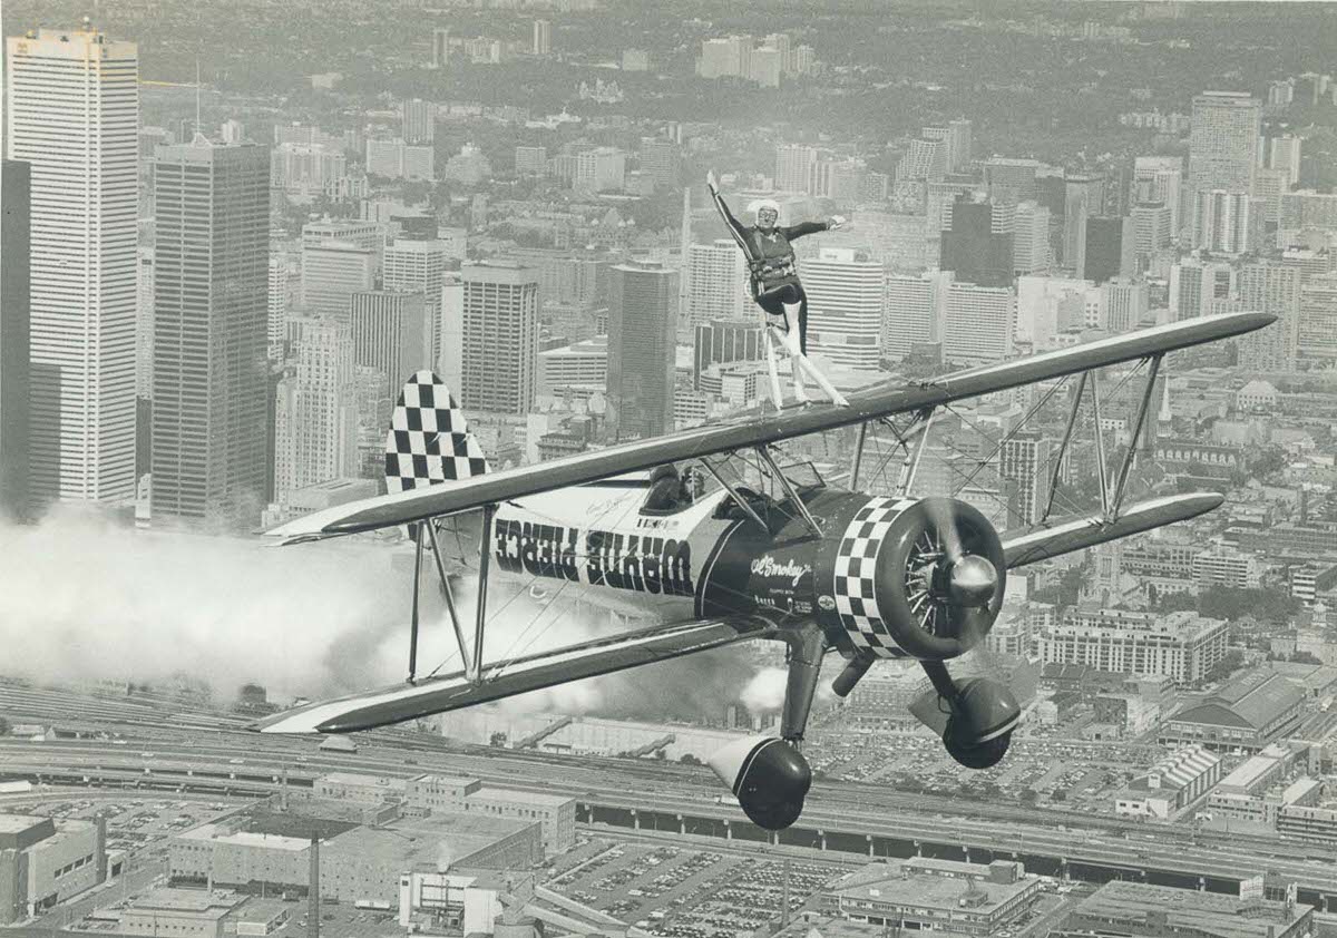
POLYGON ((980 643, 1003 608, 997 532, 956 498, 921 498, 892 522, 877 555, 877 607, 912 657, 947 660, 980 643))

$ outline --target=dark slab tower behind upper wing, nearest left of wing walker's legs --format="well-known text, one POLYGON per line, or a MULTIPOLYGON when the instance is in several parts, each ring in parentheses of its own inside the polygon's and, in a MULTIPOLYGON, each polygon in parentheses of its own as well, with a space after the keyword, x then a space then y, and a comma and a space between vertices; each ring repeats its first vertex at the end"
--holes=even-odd
POLYGON ((614 440, 673 429, 678 271, 622 263, 608 278, 608 425, 614 440))

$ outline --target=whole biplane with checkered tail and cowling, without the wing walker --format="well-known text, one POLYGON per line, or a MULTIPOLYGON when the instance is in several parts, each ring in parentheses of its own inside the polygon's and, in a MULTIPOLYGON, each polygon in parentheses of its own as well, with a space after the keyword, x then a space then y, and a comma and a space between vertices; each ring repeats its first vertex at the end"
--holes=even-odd
MULTIPOLYGON (((747 816, 769 830, 797 820, 812 772, 801 747, 814 691, 830 653, 848 695, 882 659, 919 661, 931 685, 910 711, 963 766, 985 768, 1007 752, 1021 712, 1005 683, 955 679, 947 663, 979 645, 1003 605, 1009 571, 1071 551, 1193 518, 1217 508, 1214 492, 1126 498, 1154 386, 1166 354, 1243 335, 1275 317, 1261 313, 1186 319, 1086 345, 972 367, 919 383, 888 382, 849 394, 849 406, 767 410, 539 465, 491 472, 449 390, 431 371, 404 387, 386 438, 389 493, 299 517, 270 532, 286 544, 409 525, 416 540, 409 679, 266 718, 274 734, 338 734, 400 723, 566 681, 766 639, 787 645, 779 735, 730 743, 707 759, 747 816), (999 533, 955 497, 916 498, 913 476, 935 413, 953 402, 1076 378, 1054 460, 1058 481, 1084 398, 1100 425, 1102 369, 1140 374, 1127 426, 1132 441, 1107 465, 1095 433, 1100 506, 999 533), (860 492, 870 426, 905 448, 892 494, 860 492), (798 478, 779 444, 857 428, 846 484, 798 478), (729 472, 746 460, 766 485, 729 472), (709 494, 674 472, 694 464, 709 494), (628 473, 642 473, 628 481, 628 473), (479 583, 472 636, 452 596, 439 526, 480 514, 479 583), (464 667, 418 677, 418 583, 431 552, 464 667), (541 653, 487 660, 488 583, 528 577, 632 600, 658 624, 541 653)), ((1032 413, 1034 413, 1032 408, 1032 413)), ((1023 421, 1024 425, 1024 421, 1023 421)), ((1015 430, 1013 430, 1015 432, 1015 430)), ((1005 440, 1007 437, 1004 437, 1005 440)), ((1001 446, 1001 444, 999 444, 1001 446)), ((1051 486, 1052 493, 1052 486, 1051 486)))

